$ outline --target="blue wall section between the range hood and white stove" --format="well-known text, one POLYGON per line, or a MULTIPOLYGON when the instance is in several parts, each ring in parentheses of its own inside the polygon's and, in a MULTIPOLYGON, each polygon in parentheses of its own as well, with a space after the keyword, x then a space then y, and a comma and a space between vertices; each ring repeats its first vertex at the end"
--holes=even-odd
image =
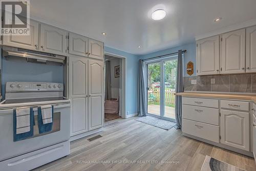
POLYGON ((2 58, 2 95, 8 81, 63 82, 63 67, 2 58))

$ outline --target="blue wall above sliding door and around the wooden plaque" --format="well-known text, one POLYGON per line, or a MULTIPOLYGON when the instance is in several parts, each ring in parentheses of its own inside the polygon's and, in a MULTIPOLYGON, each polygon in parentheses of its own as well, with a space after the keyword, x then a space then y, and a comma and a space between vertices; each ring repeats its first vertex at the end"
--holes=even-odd
POLYGON ((187 45, 178 46, 175 48, 169 48, 169 49, 157 51, 157 52, 146 54, 146 55, 140 55, 139 58, 147 59, 147 58, 151 58, 151 57, 155 57, 155 56, 165 55, 168 53, 178 52, 178 50, 180 50, 180 49, 187 50, 187 52, 184 53, 184 59, 183 59, 183 73, 184 73, 183 76, 184 77, 190 76, 186 72, 187 62, 189 62, 189 61, 194 63, 194 74, 191 76, 196 76, 196 42, 193 42, 193 43, 187 44, 187 45))

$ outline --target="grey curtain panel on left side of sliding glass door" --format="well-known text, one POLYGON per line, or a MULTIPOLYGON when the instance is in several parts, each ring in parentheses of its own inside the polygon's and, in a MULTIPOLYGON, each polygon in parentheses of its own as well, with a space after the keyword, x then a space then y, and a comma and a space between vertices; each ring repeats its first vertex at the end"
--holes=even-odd
POLYGON ((144 66, 143 62, 139 60, 139 76, 138 76, 138 113, 139 116, 146 116, 146 96, 145 96, 145 82, 144 82, 144 66))

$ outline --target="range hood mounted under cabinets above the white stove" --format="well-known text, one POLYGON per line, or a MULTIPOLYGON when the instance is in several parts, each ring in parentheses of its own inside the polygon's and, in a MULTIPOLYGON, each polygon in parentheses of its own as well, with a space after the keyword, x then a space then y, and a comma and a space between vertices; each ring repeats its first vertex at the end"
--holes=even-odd
POLYGON ((3 46, 3 56, 7 59, 22 57, 28 62, 44 63, 47 65, 65 65, 65 56, 7 46, 3 46))

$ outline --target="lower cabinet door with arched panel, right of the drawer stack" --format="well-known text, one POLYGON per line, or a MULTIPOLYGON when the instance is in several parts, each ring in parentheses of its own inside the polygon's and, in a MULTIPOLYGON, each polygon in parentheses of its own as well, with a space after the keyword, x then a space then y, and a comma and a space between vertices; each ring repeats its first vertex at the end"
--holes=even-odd
POLYGON ((250 150, 250 114, 221 110, 221 143, 250 150))

